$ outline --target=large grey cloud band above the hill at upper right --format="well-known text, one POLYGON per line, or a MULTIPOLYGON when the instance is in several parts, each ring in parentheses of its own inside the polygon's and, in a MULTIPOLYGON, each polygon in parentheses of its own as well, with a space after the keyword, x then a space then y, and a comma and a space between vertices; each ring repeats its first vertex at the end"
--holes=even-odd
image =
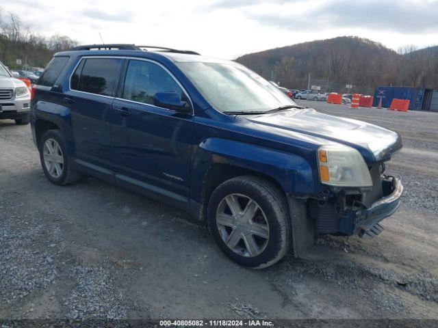
MULTIPOLYGON (((328 28, 385 30, 405 34, 425 33, 438 28, 438 5, 415 5, 403 1, 335 0, 306 14, 261 14, 246 12, 259 24, 289 31, 318 31, 328 28)), ((415 40, 413 40, 415 41, 415 40)))

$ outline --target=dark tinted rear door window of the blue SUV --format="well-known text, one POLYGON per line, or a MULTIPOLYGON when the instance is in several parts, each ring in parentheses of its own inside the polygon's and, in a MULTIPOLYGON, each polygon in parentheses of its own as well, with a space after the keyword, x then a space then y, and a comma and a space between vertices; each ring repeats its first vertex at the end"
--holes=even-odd
POLYGON ((122 59, 88 58, 83 60, 73 73, 71 89, 112 96, 114 84, 120 74, 122 59))

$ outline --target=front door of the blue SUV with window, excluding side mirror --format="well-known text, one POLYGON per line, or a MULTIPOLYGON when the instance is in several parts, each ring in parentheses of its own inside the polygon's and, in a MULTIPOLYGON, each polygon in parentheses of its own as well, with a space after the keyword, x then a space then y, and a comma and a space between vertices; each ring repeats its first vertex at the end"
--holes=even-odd
POLYGON ((157 92, 178 92, 189 102, 166 68, 129 60, 111 119, 116 180, 187 202, 193 115, 153 105, 157 92))

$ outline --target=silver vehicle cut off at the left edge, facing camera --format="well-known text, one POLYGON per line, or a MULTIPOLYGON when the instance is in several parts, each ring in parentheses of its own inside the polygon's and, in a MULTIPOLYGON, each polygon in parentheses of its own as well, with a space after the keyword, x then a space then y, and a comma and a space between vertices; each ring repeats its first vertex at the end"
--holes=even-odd
POLYGON ((0 62, 0 120, 29 124, 30 92, 23 81, 15 79, 0 62))

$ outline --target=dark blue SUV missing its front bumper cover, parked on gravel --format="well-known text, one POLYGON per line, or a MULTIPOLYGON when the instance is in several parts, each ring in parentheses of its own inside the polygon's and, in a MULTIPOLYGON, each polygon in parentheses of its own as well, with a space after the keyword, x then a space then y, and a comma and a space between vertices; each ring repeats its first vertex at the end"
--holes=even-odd
POLYGON ((268 267, 318 234, 376 236, 400 204, 400 136, 296 105, 233 61, 129 44, 56 53, 31 92, 54 184, 96 176, 208 224, 235 262, 268 267))

